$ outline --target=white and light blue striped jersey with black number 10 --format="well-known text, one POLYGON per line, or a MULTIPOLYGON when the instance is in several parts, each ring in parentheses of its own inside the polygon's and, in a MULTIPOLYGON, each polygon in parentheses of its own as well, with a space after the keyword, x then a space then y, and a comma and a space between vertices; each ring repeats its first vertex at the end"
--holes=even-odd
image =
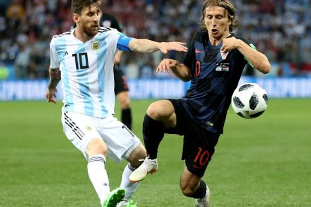
POLYGON ((50 41, 50 68, 59 68, 62 74, 63 110, 106 117, 115 108, 115 52, 129 51, 131 38, 101 27, 93 39, 82 42, 73 35, 74 30, 50 41))

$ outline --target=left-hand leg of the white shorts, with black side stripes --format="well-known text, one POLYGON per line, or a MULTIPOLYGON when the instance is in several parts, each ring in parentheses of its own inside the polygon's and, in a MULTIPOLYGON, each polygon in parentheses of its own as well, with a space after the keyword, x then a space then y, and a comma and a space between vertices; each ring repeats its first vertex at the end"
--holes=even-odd
POLYGON ((84 157, 86 148, 93 139, 102 139, 94 124, 95 118, 75 112, 63 112, 62 124, 67 139, 80 150, 84 157))

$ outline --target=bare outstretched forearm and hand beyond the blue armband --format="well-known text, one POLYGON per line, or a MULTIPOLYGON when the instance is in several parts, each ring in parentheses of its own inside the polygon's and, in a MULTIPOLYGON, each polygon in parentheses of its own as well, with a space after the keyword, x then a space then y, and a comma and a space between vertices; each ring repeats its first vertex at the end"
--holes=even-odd
POLYGON ((134 52, 156 52, 160 50, 162 53, 167 54, 169 50, 176 50, 180 52, 187 52, 188 48, 185 43, 172 41, 172 42, 156 42, 149 39, 131 39, 129 42, 129 49, 134 52))

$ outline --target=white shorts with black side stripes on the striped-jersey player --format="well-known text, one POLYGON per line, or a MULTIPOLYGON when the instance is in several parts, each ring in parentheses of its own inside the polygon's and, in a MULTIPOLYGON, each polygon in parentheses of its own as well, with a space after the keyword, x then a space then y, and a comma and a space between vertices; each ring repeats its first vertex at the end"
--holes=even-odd
POLYGON ((101 138, 106 143, 107 155, 115 161, 127 159, 140 144, 140 139, 113 115, 97 118, 64 111, 62 124, 68 140, 83 153, 86 159, 88 159, 86 147, 95 138, 101 138))

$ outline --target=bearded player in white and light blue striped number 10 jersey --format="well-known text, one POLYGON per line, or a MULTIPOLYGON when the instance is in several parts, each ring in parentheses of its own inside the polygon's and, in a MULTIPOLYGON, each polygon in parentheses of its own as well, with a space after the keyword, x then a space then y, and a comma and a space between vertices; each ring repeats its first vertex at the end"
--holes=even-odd
POLYGON ((55 103, 56 86, 62 79, 64 106, 62 124, 69 141, 86 157, 88 176, 102 206, 131 206, 138 183, 129 175, 140 166, 147 154, 140 139, 117 121, 113 63, 117 50, 187 52, 185 43, 135 39, 112 28, 99 26, 98 0, 73 0, 71 9, 77 27, 55 35, 50 41, 50 81, 48 102, 55 103), (115 161, 126 159, 120 188, 111 192, 105 170, 106 156, 115 161))

